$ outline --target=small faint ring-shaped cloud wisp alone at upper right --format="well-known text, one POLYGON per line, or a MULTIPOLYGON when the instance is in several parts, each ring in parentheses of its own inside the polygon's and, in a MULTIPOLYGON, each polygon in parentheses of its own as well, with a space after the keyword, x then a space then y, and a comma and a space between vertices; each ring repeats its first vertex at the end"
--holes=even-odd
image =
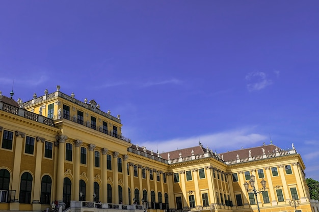
POLYGON ((247 84, 247 89, 250 92, 254 90, 261 90, 273 83, 272 80, 268 79, 267 75, 263 72, 251 72, 246 75, 246 80, 250 82, 247 84))

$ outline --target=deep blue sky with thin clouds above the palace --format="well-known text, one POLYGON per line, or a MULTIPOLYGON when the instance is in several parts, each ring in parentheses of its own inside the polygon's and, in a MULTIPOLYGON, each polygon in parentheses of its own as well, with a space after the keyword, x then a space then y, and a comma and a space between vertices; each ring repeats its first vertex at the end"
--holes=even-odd
POLYGON ((1 1, 0 90, 61 92, 168 152, 294 143, 319 180, 318 1, 1 1))

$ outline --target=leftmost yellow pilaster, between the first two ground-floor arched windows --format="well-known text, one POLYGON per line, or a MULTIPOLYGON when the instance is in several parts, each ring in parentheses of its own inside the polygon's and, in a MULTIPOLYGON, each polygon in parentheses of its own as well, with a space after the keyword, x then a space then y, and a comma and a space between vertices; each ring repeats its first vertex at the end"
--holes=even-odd
POLYGON ((14 149, 14 164, 12 171, 12 190, 16 191, 14 203, 10 203, 10 210, 19 210, 19 185, 20 185, 20 167, 21 167, 21 154, 23 147, 23 139, 25 133, 20 131, 15 132, 15 149, 14 149))

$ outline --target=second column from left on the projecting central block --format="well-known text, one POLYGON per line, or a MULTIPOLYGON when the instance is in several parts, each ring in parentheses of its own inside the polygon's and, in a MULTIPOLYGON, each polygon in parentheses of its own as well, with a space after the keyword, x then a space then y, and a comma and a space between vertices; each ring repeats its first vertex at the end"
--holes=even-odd
POLYGON ((81 145, 82 145, 81 140, 75 140, 74 141, 74 182, 73 182, 73 196, 74 200, 79 200, 79 167, 80 167, 80 150, 81 150, 81 145))

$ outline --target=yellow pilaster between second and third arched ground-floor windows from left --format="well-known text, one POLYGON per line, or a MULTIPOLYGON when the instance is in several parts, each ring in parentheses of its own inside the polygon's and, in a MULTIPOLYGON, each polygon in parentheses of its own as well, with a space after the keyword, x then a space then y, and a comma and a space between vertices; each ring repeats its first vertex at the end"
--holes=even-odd
POLYGON ((42 153, 43 153, 43 143, 44 138, 36 137, 37 145, 35 149, 36 154, 36 170, 34 174, 34 181, 39 182, 34 184, 33 192, 33 210, 41 210, 40 205, 40 194, 41 194, 41 163, 42 163, 42 153), (39 142, 41 141, 41 142, 39 142))

